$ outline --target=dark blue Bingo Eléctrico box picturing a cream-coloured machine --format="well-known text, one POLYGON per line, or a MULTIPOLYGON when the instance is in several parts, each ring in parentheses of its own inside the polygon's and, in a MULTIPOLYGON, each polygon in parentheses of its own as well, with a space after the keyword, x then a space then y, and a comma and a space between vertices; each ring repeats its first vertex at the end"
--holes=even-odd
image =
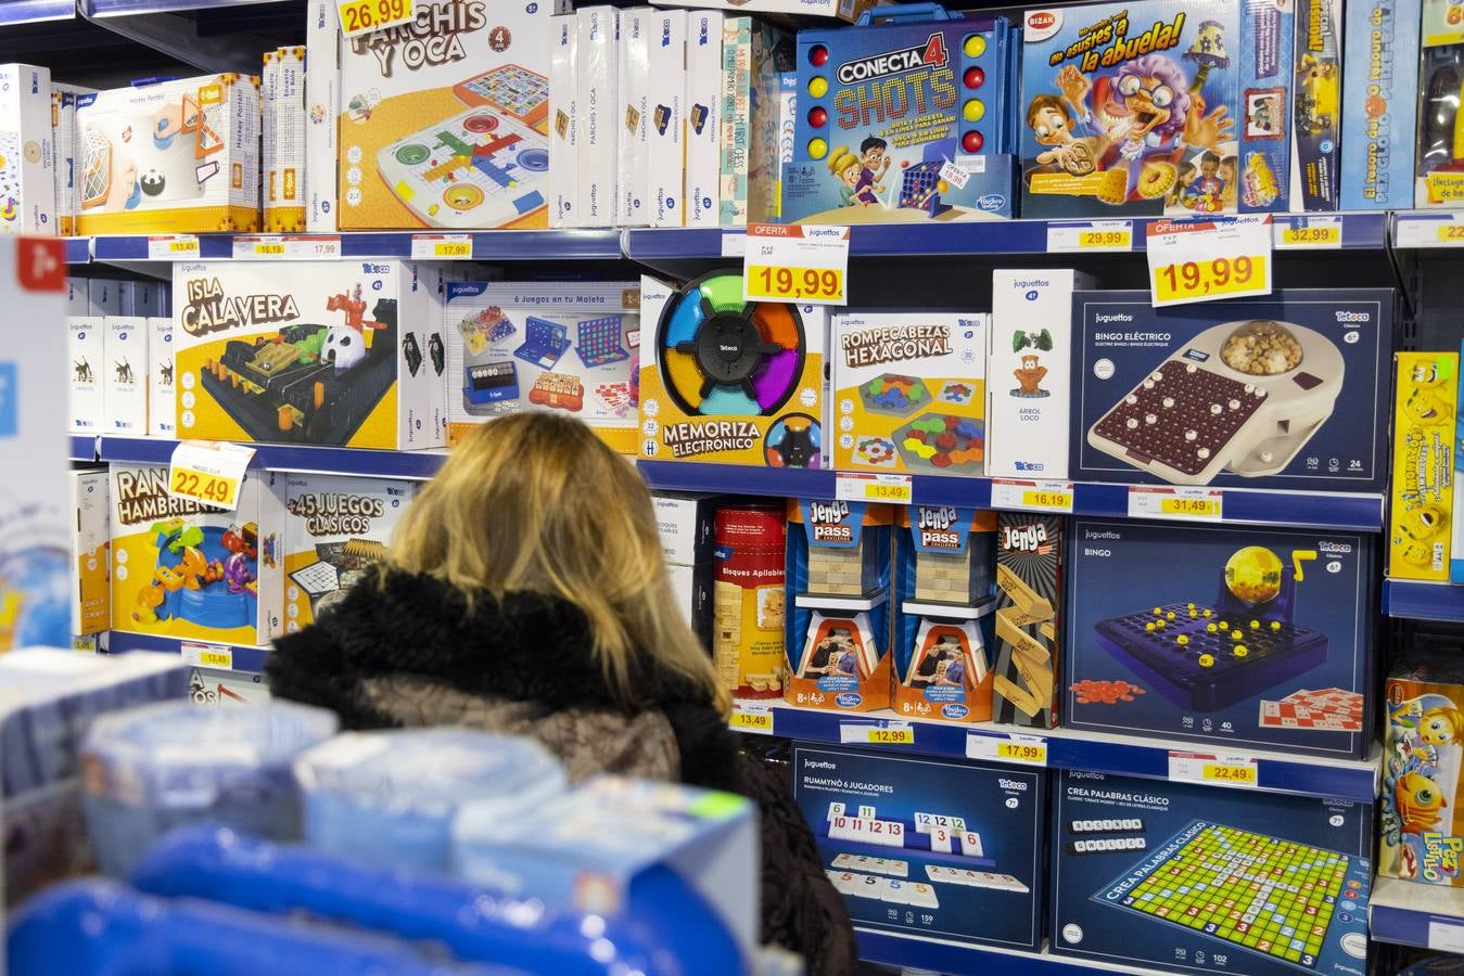
POLYGON ((1073 294, 1069 477, 1383 492, 1394 293, 1073 294))

